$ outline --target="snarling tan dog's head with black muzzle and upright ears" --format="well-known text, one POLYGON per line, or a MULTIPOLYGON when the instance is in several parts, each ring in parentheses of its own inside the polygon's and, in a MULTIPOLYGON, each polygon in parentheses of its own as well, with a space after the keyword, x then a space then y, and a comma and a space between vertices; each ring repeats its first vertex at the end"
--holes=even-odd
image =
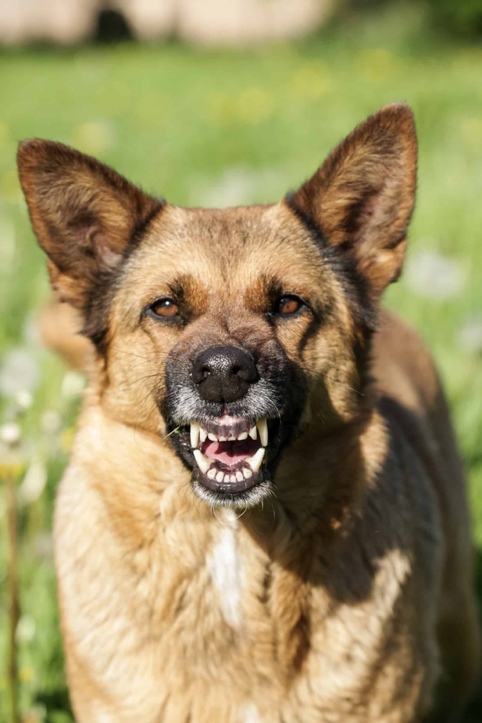
POLYGON ((168 435, 200 497, 259 502, 297 437, 360 413, 413 210, 408 106, 367 119, 276 205, 178 208, 43 140, 18 163, 53 288, 97 350, 101 403, 168 435))

